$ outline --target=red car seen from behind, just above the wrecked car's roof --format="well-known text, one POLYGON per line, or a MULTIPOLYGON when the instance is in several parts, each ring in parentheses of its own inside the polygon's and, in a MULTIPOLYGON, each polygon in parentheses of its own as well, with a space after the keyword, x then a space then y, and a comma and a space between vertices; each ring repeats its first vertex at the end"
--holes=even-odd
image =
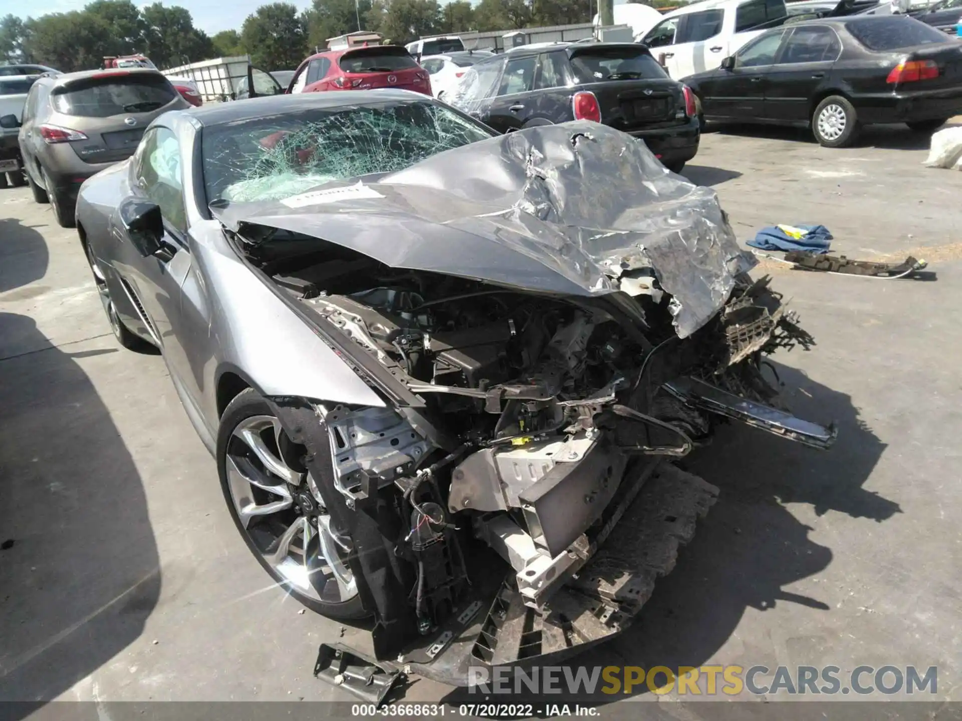
POLYGON ((431 94, 431 81, 408 51, 397 45, 326 50, 301 62, 288 92, 399 87, 431 94))

